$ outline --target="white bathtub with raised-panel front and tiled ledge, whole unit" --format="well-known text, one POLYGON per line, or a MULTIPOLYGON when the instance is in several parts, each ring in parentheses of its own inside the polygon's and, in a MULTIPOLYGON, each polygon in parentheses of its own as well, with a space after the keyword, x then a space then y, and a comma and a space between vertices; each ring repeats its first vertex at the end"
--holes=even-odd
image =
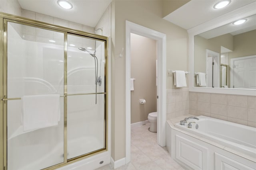
POLYGON ((166 147, 176 162, 193 170, 256 169, 256 128, 206 116, 180 125, 191 116, 166 122, 166 147))

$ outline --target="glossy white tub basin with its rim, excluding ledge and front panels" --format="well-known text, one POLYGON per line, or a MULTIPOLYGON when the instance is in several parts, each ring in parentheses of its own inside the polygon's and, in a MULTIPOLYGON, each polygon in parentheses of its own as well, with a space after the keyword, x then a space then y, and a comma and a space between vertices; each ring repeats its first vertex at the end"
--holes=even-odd
POLYGON ((212 117, 197 117, 199 120, 188 120, 188 123, 196 122, 192 123, 191 129, 188 128, 188 123, 176 123, 175 127, 256 158, 256 128, 212 117))

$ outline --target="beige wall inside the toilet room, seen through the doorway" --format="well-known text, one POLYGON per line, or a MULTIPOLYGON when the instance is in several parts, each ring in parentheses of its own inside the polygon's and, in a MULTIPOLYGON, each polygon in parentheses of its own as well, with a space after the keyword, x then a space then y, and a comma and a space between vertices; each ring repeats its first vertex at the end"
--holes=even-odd
POLYGON ((156 40, 131 33, 131 123, 145 121, 156 111, 156 40), (146 104, 139 104, 145 99, 146 104))

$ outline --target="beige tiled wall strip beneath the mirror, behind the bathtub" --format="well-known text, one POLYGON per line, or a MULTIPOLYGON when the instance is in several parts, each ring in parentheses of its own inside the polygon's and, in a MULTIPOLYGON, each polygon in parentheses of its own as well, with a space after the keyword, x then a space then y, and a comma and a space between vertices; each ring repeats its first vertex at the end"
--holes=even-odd
POLYGON ((189 113, 256 127, 256 96, 189 92, 189 113))

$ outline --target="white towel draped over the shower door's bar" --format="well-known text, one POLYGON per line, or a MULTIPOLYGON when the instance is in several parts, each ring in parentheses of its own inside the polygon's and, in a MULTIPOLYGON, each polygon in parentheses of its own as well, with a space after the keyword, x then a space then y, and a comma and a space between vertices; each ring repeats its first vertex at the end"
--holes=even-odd
POLYGON ((23 96, 23 131, 32 131, 58 125, 60 118, 60 95, 23 96))

